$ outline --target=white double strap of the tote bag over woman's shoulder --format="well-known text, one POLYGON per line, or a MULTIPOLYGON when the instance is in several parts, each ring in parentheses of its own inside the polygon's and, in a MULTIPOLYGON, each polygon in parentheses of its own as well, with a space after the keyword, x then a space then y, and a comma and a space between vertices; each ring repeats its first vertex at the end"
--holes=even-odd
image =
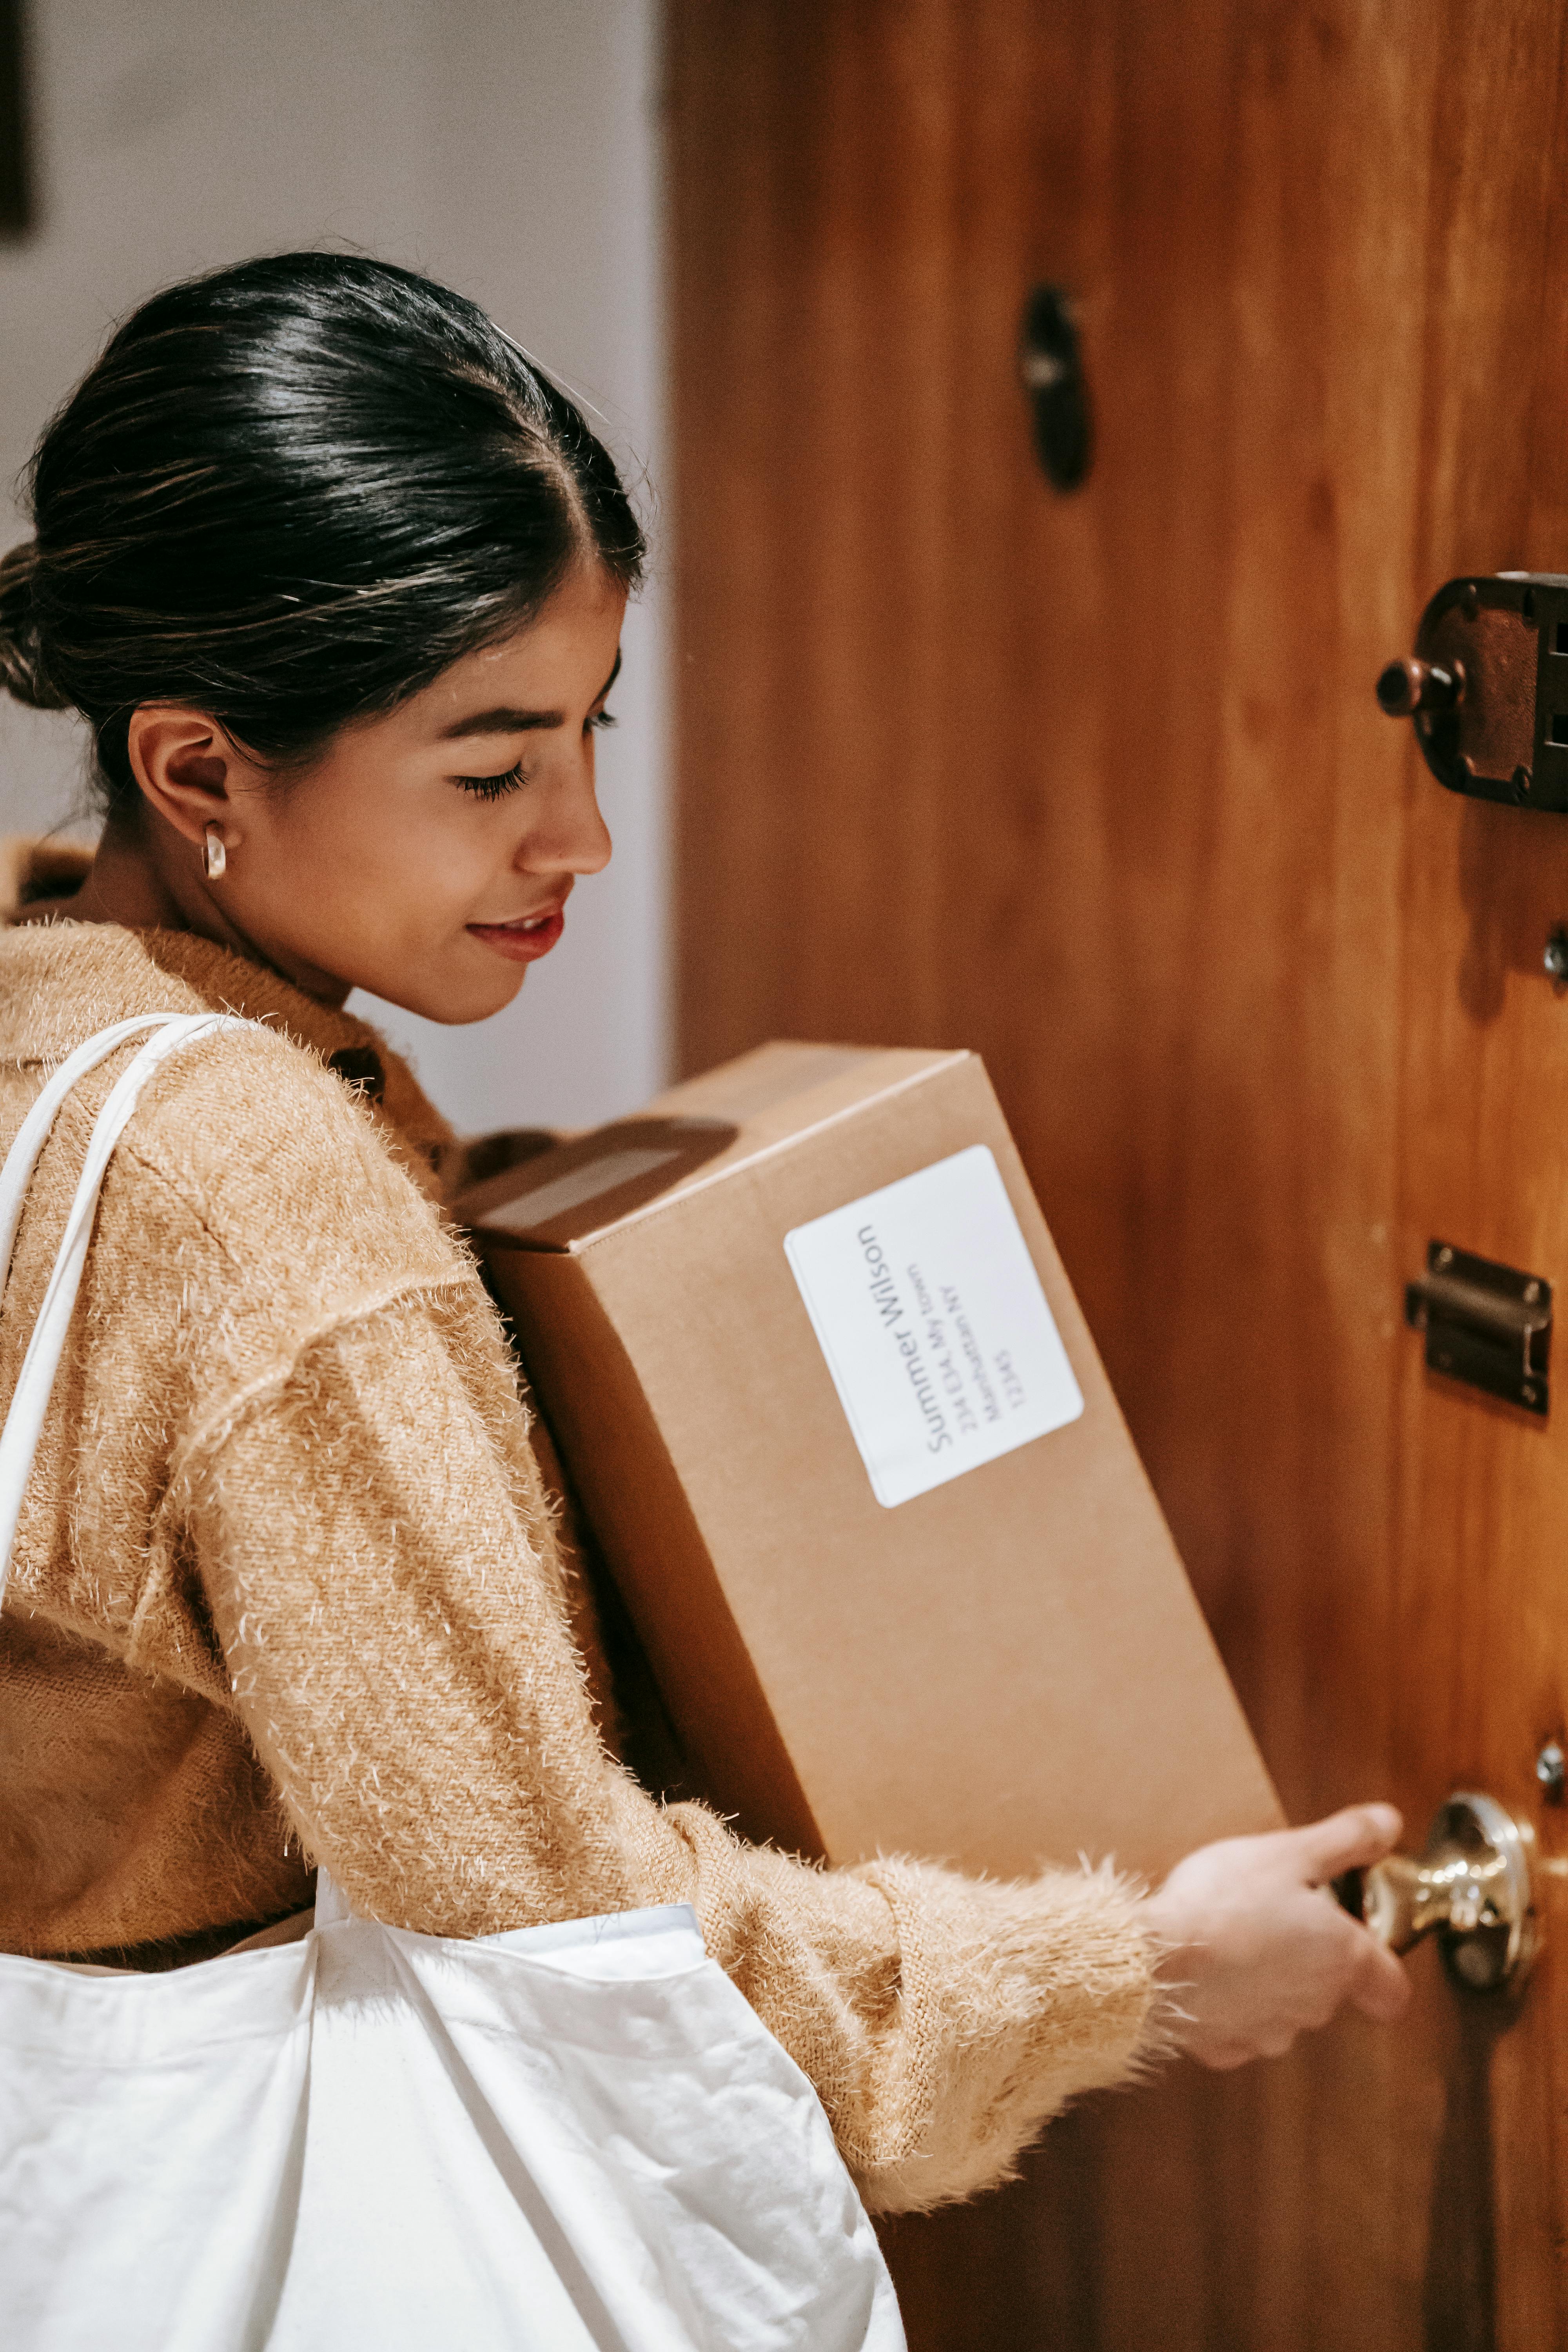
POLYGON ((134 1021, 115 1021, 113 1028, 99 1030, 96 1037, 80 1044, 75 1054, 59 1065, 54 1077, 47 1080, 42 1094, 21 1122, 16 1141, 5 1155, 5 1167, 0 1167, 2 1291, 12 1268, 12 1251, 16 1247, 16 1230, 21 1225, 28 1185, 33 1183, 33 1171, 45 1143, 49 1141, 49 1129, 54 1127, 61 1103, 78 1080, 87 1077, 89 1070, 96 1070, 96 1065, 106 1061, 115 1047, 125 1044, 127 1037, 150 1030, 148 1042, 132 1056, 110 1087, 103 1110, 92 1129, 87 1162, 75 1188, 75 1200, 71 1202, 71 1216, 66 1218, 66 1232, 59 1244, 59 1256, 54 1258, 54 1272, 49 1275, 45 1303, 38 1310, 38 1322, 33 1324, 28 1352, 21 1359, 21 1374, 5 1416, 5 1430, 0 1430, 0 1602, 5 1599, 5 1581, 12 1569, 12 1543, 16 1541, 21 1498, 33 1470, 33 1456, 38 1454, 45 1414, 49 1411, 54 1374, 59 1371, 59 1359, 66 1350, 75 1294, 82 1287, 92 1221, 99 1207, 99 1192, 103 1188, 103 1171, 108 1169, 110 1152, 120 1141, 129 1115, 136 1108, 136 1096, 146 1087, 153 1070, 158 1070, 169 1054, 179 1054, 181 1047, 195 1044, 200 1037, 212 1037, 223 1028, 247 1030, 254 1028, 254 1023, 240 1021, 235 1014, 139 1014, 134 1021))

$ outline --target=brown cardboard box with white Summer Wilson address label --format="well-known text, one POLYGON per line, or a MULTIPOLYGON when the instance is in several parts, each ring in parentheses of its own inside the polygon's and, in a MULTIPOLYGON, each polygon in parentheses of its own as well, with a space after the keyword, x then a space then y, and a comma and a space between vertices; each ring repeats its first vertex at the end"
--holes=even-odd
POLYGON ((458 1216, 750 1837, 1159 1872, 1279 1825, 973 1054, 762 1047, 458 1216))

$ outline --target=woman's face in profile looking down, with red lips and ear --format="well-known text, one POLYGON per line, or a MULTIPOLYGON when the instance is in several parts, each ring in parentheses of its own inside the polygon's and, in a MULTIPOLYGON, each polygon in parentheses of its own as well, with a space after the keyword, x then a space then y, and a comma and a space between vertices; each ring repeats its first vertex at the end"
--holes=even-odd
POLYGON ((592 753, 623 612, 625 590, 581 567, 529 628, 346 727, 287 783, 221 734, 160 736, 143 706, 148 800, 190 844, 223 828, 226 870, 200 882, 223 934, 327 1002, 367 988, 430 1021, 510 1004, 576 877, 609 861, 592 753))

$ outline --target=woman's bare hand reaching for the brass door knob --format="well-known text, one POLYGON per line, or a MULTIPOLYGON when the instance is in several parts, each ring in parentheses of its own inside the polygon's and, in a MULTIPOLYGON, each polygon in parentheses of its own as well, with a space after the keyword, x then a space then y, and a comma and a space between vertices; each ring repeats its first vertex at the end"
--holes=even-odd
POLYGON ((1352 1804, 1305 1830, 1227 1837, 1175 1865, 1143 1915, 1166 1957, 1178 2049, 1199 2065, 1279 2058, 1345 2002, 1387 2023, 1410 1999, 1401 1964, 1340 1910, 1328 1882, 1380 1863, 1392 1804, 1352 1804))

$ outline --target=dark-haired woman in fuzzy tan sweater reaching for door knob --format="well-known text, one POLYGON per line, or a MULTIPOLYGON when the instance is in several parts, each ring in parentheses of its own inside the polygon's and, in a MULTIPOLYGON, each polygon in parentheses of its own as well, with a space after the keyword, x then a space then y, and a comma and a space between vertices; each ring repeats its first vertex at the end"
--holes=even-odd
MULTIPOLYGON (((317 1865, 449 1938, 689 1900, 889 2211, 1004 2178, 1154 2049, 1394 2016, 1399 1964, 1321 1891, 1389 1849, 1387 1806, 1147 1896, 999 1886, 748 1849, 607 1752, 590 1606, 437 1214, 449 1131, 343 1011, 498 1011, 609 858, 642 536, 571 402, 442 287, 254 261, 115 334, 33 515, 0 675, 87 717, 106 828, 92 861, 16 851, 0 1143, 115 1021, 266 1035, 165 1068, 108 1171, 0 1621, 0 1947, 169 1969, 299 1915, 317 1865)), ((110 1075, 45 1150, 0 1397, 110 1075)))

